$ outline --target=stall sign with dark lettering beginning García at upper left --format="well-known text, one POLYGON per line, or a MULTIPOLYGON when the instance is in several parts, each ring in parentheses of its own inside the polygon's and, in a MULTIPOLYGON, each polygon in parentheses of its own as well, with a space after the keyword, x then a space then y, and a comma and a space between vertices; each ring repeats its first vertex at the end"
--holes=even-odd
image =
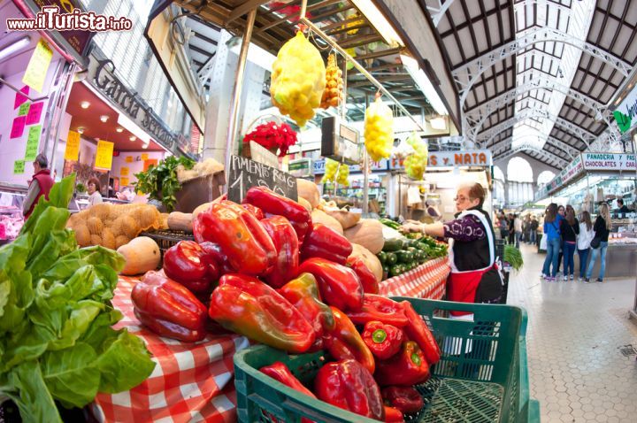
MULTIPOLYGON (((118 105, 128 118, 146 130, 156 141, 169 149, 173 149, 178 144, 183 149, 185 139, 183 136, 175 135, 173 131, 157 116, 148 104, 134 92, 127 88, 115 75, 115 65, 111 59, 98 60, 90 57, 88 65, 88 76, 91 84, 100 92, 118 105)), ((187 142, 186 142, 187 143, 187 142)))

